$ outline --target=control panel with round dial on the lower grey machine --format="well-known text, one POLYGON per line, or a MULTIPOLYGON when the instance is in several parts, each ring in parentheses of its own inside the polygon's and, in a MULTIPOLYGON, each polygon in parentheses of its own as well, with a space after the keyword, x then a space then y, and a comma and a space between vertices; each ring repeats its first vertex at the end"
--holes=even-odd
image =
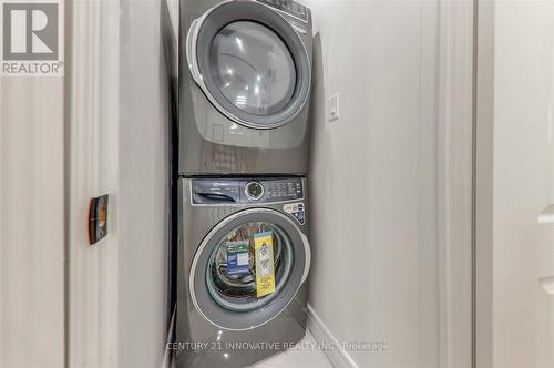
POLYGON ((304 198, 300 177, 195 178, 191 183, 193 205, 268 204, 304 198))

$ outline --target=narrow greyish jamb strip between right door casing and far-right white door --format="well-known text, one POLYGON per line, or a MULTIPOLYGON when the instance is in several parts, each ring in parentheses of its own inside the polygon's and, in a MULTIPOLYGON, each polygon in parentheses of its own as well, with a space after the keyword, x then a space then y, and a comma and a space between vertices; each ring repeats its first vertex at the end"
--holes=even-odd
POLYGON ((475 0, 473 80, 472 366, 492 367, 494 1, 475 0))

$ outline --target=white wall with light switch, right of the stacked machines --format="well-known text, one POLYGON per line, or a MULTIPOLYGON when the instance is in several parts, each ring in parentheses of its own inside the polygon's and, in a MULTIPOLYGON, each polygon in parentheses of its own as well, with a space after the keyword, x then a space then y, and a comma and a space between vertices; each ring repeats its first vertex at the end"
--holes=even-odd
POLYGON ((310 305, 339 341, 389 343, 387 352, 348 351, 360 367, 438 367, 438 2, 307 4, 310 305), (328 122, 335 92, 341 119, 328 122))

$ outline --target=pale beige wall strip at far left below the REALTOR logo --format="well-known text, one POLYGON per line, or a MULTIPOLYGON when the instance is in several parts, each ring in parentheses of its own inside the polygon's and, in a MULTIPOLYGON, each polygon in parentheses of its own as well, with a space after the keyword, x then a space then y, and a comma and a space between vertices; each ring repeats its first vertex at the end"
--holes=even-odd
POLYGON ((0 366, 63 366, 63 78, 0 78, 0 366))

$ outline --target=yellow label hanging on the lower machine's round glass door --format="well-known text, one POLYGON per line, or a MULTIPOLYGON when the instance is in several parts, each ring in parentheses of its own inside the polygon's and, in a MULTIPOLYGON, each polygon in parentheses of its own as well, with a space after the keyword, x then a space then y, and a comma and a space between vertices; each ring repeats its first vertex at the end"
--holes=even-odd
POLYGON ((256 257, 256 296, 275 292, 274 237, 273 232, 254 234, 256 257))

